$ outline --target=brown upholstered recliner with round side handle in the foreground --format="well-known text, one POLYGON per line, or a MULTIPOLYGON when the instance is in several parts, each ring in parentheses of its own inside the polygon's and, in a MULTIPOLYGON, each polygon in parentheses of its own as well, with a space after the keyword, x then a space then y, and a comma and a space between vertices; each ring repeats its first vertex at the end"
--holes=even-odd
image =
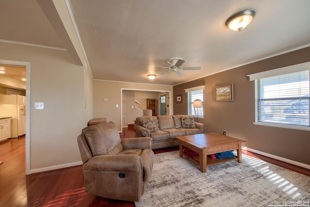
POLYGON ((151 137, 121 139, 113 122, 82 129, 78 147, 85 191, 105 198, 140 201, 151 175, 151 137))

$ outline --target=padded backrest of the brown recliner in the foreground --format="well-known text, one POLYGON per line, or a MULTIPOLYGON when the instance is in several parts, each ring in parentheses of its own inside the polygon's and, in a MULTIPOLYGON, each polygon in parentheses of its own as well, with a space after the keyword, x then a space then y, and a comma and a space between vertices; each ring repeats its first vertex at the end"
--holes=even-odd
POLYGON ((106 155, 121 143, 120 134, 113 122, 85 127, 82 129, 82 134, 85 136, 93 156, 106 155))

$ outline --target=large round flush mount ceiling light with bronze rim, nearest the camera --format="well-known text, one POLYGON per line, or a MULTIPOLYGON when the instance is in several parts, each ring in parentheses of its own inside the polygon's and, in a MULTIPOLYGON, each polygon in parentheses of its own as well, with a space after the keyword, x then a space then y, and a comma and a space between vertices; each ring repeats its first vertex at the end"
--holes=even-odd
POLYGON ((251 23, 255 15, 254 10, 240 11, 229 17, 225 24, 229 29, 240 32, 251 23))

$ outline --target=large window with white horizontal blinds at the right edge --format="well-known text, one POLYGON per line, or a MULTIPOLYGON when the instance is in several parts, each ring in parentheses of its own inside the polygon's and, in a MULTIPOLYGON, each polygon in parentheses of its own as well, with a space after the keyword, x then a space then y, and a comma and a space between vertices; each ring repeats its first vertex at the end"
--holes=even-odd
POLYGON ((256 121, 310 126, 310 71, 255 80, 256 121))

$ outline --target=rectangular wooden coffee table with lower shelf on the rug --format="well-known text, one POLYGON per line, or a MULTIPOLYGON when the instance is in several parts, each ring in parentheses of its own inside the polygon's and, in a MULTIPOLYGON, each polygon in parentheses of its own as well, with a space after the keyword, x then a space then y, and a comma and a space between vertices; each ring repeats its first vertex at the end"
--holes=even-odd
POLYGON ((200 165, 200 171, 202 173, 205 173, 207 166, 210 165, 231 160, 238 160, 239 163, 242 162, 241 146, 243 142, 246 142, 245 140, 240 140, 217 133, 195 134, 179 136, 176 138, 180 140, 180 157, 183 157, 183 146, 199 153, 199 157, 197 156, 189 159, 200 165), (237 156, 235 156, 235 158, 211 159, 207 156, 235 149, 237 150, 237 156))

